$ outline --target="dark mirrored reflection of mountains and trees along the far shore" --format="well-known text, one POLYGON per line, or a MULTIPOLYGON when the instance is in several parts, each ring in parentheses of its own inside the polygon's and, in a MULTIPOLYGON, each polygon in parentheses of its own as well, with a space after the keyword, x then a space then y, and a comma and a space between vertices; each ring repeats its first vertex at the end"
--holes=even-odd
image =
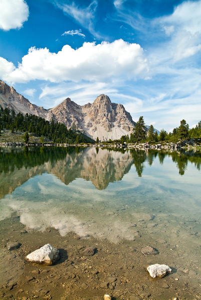
POLYGON ((199 151, 123 150, 97 148, 1 148, 0 150, 0 198, 11 193, 31 177, 43 173, 54 174, 68 185, 76 178, 91 181, 99 189, 106 189, 110 182, 122 180, 132 166, 139 177, 145 163, 151 166, 158 157, 163 164, 169 157, 183 175, 188 162, 200 170, 199 151))

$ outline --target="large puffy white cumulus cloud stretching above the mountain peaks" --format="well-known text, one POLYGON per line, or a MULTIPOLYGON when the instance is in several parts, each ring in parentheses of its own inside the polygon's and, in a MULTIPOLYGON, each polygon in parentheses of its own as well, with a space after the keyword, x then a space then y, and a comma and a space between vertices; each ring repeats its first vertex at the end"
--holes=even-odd
POLYGON ((148 72, 148 62, 140 45, 123 40, 98 45, 84 43, 76 50, 65 45, 58 53, 33 47, 15 70, 9 69, 8 66, 13 66, 6 60, 4 63, 7 69, 2 77, 10 83, 36 79, 51 82, 111 81, 116 77, 143 78, 148 72))

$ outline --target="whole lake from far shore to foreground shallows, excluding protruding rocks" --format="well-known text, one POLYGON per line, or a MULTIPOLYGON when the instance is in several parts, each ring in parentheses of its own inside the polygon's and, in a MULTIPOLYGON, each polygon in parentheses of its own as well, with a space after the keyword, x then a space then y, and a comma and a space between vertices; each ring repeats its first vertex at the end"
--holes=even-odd
POLYGON ((201 299, 200 166, 193 150, 0 148, 0 296, 201 299), (45 243, 61 249, 58 264, 25 261, 45 243), (97 253, 86 258, 87 246, 97 253), (173 272, 152 280, 152 263, 173 272))

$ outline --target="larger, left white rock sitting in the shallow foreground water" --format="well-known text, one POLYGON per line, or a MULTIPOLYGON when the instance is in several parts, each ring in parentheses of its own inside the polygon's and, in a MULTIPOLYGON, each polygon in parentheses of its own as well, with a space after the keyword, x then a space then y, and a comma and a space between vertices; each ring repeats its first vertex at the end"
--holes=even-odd
POLYGON ((28 254, 26 259, 36 263, 54 264, 59 259, 59 250, 50 244, 28 254))

